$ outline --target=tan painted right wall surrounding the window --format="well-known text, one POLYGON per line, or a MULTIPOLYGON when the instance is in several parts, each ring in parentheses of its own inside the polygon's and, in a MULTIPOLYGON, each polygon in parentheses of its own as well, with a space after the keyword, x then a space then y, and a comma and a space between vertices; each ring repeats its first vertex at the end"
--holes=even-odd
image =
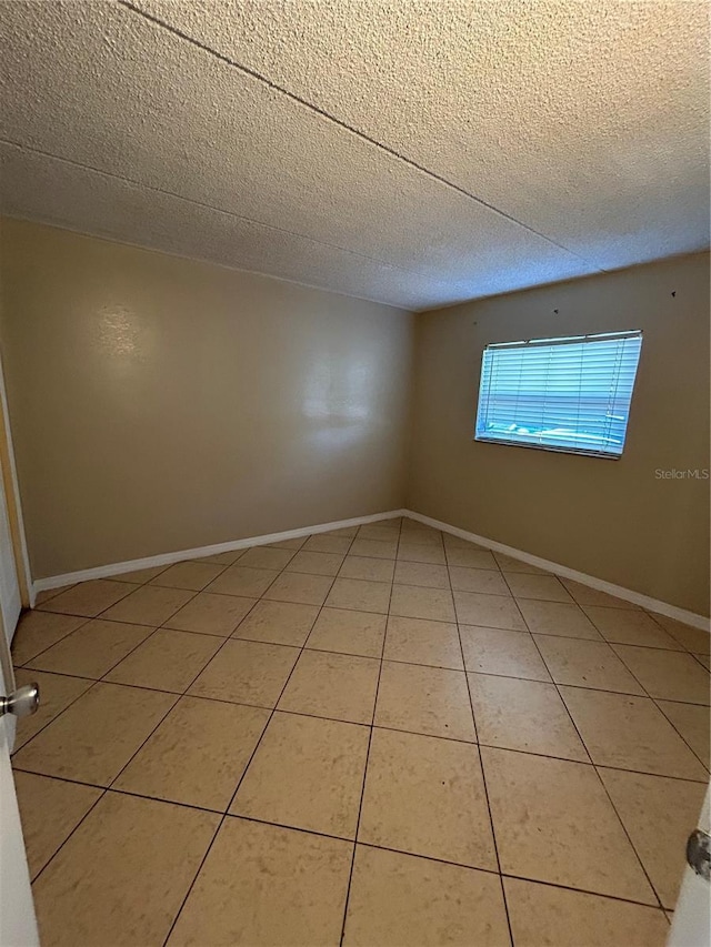
POLYGON ((711 466, 709 255, 418 319, 408 506, 708 615, 710 482, 655 471, 711 466), (625 329, 644 341, 621 460, 472 440, 484 345, 625 329))

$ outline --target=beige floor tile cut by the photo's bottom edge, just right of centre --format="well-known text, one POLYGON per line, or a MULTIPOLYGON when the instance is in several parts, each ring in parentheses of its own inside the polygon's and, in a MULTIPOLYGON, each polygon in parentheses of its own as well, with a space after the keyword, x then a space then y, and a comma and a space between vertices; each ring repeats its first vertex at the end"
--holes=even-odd
POLYGON ((507 947, 495 875, 359 845, 344 947, 507 947))

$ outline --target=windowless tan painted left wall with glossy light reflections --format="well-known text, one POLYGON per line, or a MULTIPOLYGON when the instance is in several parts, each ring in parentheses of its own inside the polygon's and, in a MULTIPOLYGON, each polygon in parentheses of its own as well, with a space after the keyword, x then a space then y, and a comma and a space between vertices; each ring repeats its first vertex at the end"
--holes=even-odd
POLYGON ((413 316, 6 220, 34 578, 402 505, 413 316))

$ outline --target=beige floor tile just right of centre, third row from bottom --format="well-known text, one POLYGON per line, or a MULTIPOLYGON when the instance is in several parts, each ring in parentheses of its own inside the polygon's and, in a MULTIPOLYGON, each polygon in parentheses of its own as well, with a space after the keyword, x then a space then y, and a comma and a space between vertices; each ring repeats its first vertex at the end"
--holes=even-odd
POLYGON ((441 667, 383 662, 375 724, 474 743, 467 675, 441 667))

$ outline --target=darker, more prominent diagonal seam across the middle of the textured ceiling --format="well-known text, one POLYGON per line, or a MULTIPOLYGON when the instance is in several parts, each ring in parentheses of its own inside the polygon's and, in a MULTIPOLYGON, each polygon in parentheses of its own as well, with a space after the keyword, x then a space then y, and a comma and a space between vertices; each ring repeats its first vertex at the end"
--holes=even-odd
POLYGON ((578 258, 578 260, 581 260, 583 263, 585 263, 585 265, 594 268, 600 273, 605 272, 602 268, 598 266, 597 263, 592 263, 590 260, 587 260, 584 256, 581 256, 581 254, 577 253, 574 250, 570 250, 568 246, 564 246, 562 243, 559 243, 557 240, 553 240, 551 236, 548 236, 547 234, 541 233, 541 231, 535 230, 535 228, 530 226, 528 223, 523 223, 523 221, 520 221, 517 218, 512 216, 511 214, 507 213, 505 211, 500 210, 494 204, 490 204, 488 201, 484 201, 483 198, 478 198, 475 194, 472 194, 465 188, 462 188, 459 184, 455 184, 453 181, 449 181, 442 174, 438 174, 437 171, 431 171, 429 168, 425 168, 423 164, 420 164, 419 162, 414 161, 413 159, 408 158, 404 154, 401 154, 399 151, 397 151, 394 148, 391 148, 389 144, 384 144, 383 142, 378 141, 378 139, 371 138, 369 134, 365 134, 365 132, 362 132, 359 129, 353 128, 352 125, 349 125, 348 122, 343 121, 342 119, 337 118, 336 115, 332 115, 330 112, 327 112, 326 109, 322 109, 320 105, 314 105, 313 102, 309 102, 307 99, 301 98, 301 95, 298 95, 296 92, 289 91, 289 89, 286 89, 283 85, 279 85, 277 82, 269 79, 267 75, 263 75, 261 72, 258 72, 256 69, 252 69, 249 66, 243 66, 242 63, 237 62, 237 60, 230 59, 230 57, 226 56, 222 52, 219 52, 219 50, 212 49, 212 47, 207 46, 206 43, 201 42, 200 40, 197 40, 194 37, 191 37, 189 33, 186 33, 182 30, 178 29, 178 27, 173 27, 171 23, 167 23, 164 20, 161 20, 159 17, 156 17, 152 13, 148 13, 146 10, 142 10, 140 7, 136 7, 132 2, 130 2, 130 0, 117 0, 117 2, 119 6, 124 7, 127 10, 131 11, 132 13, 136 13, 137 16, 142 17, 148 22, 154 23, 156 26, 161 27, 164 30, 168 30, 168 32, 172 33, 173 36, 178 37, 179 39, 190 43, 191 46, 197 47, 198 49, 202 50, 203 52, 207 52, 209 56, 214 57, 216 59, 220 60, 221 62, 224 62, 227 66, 230 66, 232 69, 237 69, 240 72, 243 72, 246 75, 251 77, 252 79, 257 79, 259 82, 264 83, 270 89, 273 89, 276 92, 280 92, 282 95, 287 95, 287 98, 291 99, 292 101, 298 102, 300 105, 303 105, 307 109, 310 109, 312 112, 316 112, 318 115, 321 115, 321 118, 327 119, 328 121, 332 122, 333 124, 338 125, 339 128, 344 129, 346 131, 350 132, 351 134, 354 134, 357 138, 360 138, 363 141, 368 142, 369 144, 372 144, 374 148, 378 148, 381 151, 384 151, 387 154, 390 154, 392 158, 395 158, 399 161, 402 161, 404 164, 408 164, 411 168, 414 168, 420 173, 425 174, 428 178, 431 178, 434 181, 438 181, 440 184, 443 184, 445 188, 450 188, 451 190, 455 191, 458 194, 461 194, 462 197, 468 198, 471 201, 474 201, 474 203, 480 204, 483 208, 487 208, 487 210, 491 211, 492 213, 495 213, 499 216, 503 218, 504 220, 508 220, 510 223, 514 223, 517 226, 520 226, 523 230, 527 230, 529 233, 533 233, 535 236, 541 238, 541 240, 545 240, 548 243, 552 244, 553 246, 557 246, 559 250, 563 250, 565 253, 570 253, 571 255, 578 258))

